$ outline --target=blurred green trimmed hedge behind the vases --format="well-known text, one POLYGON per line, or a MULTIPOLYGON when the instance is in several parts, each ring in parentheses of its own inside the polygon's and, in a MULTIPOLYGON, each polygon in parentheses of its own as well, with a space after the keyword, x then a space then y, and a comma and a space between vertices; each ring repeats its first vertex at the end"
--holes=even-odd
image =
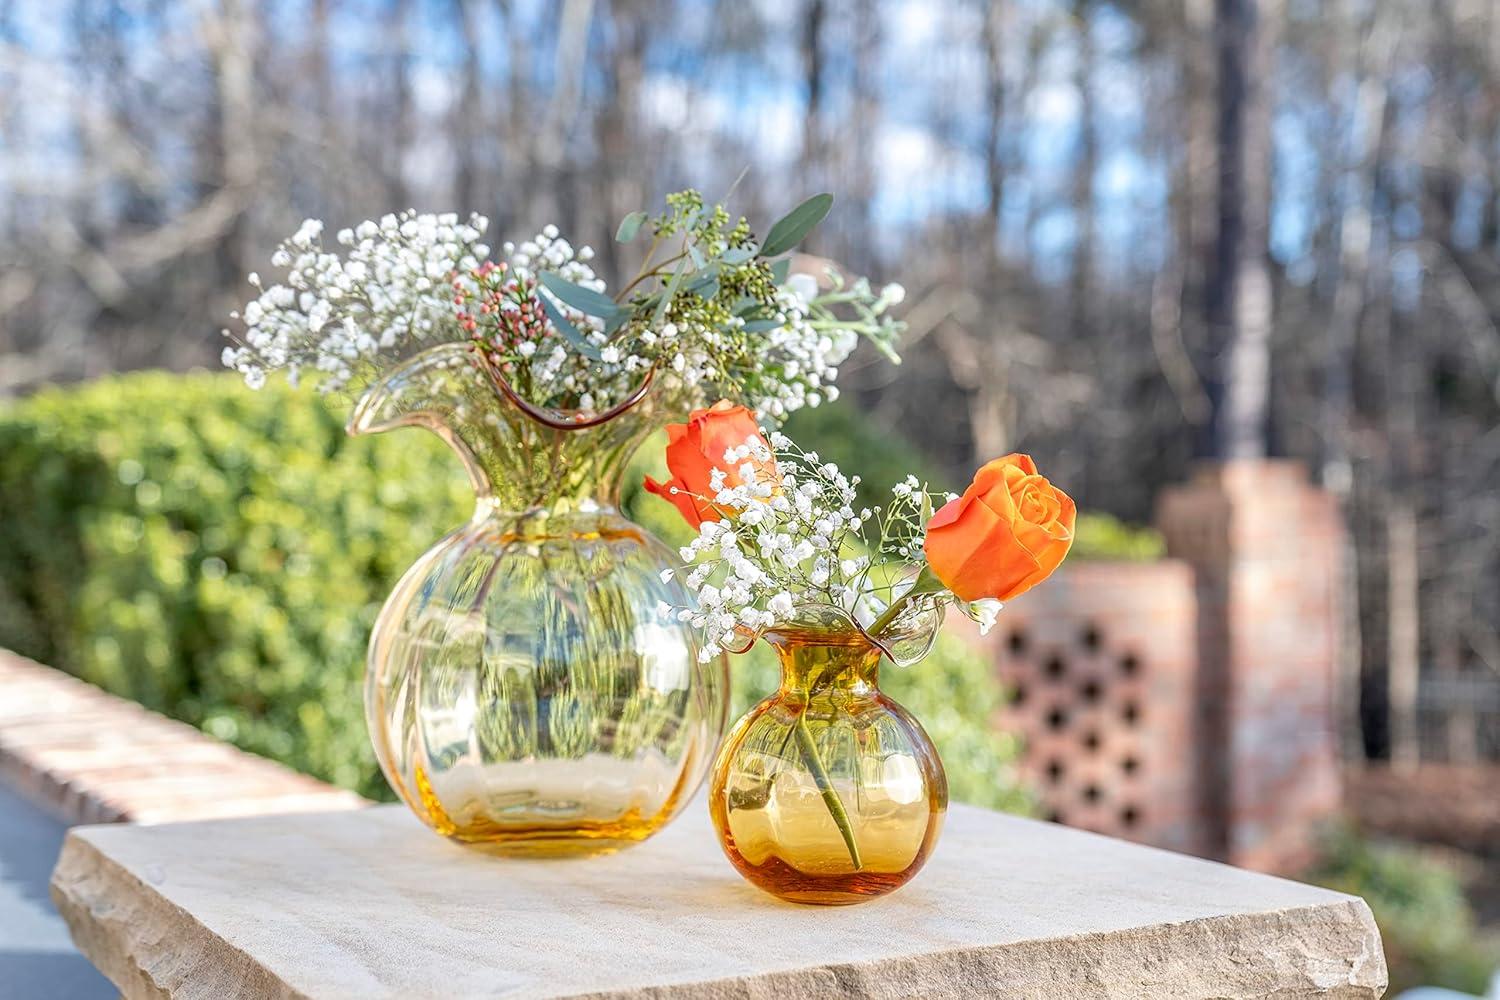
MULTIPOLYGON (((342 418, 230 375, 117 376, 0 409, 0 646, 387 798, 364 738, 364 642, 400 571, 471 501, 430 435, 350 439, 342 418)), ((810 447, 832 456, 843 429, 828 420, 810 447)), ((664 502, 633 487, 627 507, 681 537, 664 502)), ((772 675, 765 655, 741 658, 736 711, 772 675)), ((888 676, 956 798, 1024 807, 982 658, 944 637, 888 676)))

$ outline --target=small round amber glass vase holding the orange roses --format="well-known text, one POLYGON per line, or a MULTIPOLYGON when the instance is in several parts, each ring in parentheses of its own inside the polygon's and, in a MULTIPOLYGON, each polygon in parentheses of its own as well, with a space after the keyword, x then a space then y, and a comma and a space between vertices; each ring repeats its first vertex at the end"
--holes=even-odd
POLYGON ((760 889, 862 903, 927 862, 948 778, 921 724, 880 693, 884 643, 837 615, 800 618, 764 636, 782 687, 718 751, 710 813, 729 861, 760 889))

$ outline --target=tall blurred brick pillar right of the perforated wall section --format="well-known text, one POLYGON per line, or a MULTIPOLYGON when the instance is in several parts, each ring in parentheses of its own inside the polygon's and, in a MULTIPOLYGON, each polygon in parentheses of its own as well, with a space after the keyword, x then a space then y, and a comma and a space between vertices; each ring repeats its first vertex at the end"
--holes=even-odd
POLYGON ((1196 571, 1210 853, 1293 871, 1340 808, 1336 504, 1294 462, 1234 460, 1166 490, 1156 522, 1196 571))

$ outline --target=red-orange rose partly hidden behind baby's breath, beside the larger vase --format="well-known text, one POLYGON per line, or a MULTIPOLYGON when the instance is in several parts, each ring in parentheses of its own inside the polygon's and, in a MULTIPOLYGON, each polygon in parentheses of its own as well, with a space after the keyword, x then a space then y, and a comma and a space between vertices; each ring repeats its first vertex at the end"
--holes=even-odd
POLYGON ((686 424, 668 424, 666 427, 666 468, 672 474, 668 483, 657 483, 646 477, 646 492, 670 501, 693 528, 705 520, 720 520, 723 511, 699 496, 712 496, 717 490, 711 486, 714 469, 724 471, 724 489, 741 486, 740 466, 752 465, 758 475, 776 477, 774 459, 756 459, 750 456, 744 462, 729 463, 724 453, 738 448, 750 439, 759 441, 770 450, 760 427, 744 406, 735 406, 726 399, 718 400, 708 409, 694 409, 687 417, 686 424), (676 493, 672 489, 676 487, 676 493))

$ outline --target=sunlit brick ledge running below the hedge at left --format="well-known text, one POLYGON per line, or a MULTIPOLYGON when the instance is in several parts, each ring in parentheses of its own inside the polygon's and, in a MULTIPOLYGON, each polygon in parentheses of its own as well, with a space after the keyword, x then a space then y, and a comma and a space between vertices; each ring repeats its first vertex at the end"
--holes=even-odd
POLYGON ((0 781, 70 823, 315 813, 368 805, 0 649, 0 781))

